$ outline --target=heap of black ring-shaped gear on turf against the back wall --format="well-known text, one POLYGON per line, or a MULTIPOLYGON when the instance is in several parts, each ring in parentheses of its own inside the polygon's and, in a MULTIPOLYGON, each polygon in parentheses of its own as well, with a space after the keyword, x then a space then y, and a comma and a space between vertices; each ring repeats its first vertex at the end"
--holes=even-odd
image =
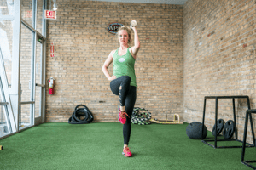
POLYGON ((77 105, 73 115, 68 119, 68 123, 70 124, 88 124, 92 121, 93 116, 85 105, 77 105), (83 108, 79 108, 80 106, 83 106, 83 108), (81 116, 84 116, 84 119, 80 119, 81 116))

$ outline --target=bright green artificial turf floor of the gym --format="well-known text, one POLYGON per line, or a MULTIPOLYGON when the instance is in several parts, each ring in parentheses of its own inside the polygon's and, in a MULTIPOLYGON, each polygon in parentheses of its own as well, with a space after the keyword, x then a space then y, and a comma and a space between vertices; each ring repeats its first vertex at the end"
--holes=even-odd
MULTIPOLYGON (((250 169, 240 162, 241 148, 189 139, 187 126, 132 124, 127 158, 120 123, 44 123, 0 140, 0 169, 250 169)), ((246 160, 256 160, 255 151, 247 148, 246 160)))

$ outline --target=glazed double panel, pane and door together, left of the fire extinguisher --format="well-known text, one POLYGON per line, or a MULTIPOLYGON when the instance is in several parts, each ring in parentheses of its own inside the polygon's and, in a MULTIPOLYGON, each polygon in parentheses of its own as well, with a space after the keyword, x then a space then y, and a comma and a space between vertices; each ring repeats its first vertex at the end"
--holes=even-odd
POLYGON ((44 38, 21 25, 19 127, 41 123, 44 111, 44 38), (34 48, 32 48, 34 47, 34 48))

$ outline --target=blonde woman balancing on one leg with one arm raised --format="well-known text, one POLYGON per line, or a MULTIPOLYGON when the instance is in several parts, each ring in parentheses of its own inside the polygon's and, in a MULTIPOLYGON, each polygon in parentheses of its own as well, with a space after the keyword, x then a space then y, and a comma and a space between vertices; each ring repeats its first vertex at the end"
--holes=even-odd
POLYGON ((131 135, 131 114, 136 101, 136 76, 134 64, 140 48, 135 26, 121 26, 117 33, 120 47, 113 50, 102 66, 102 71, 110 82, 113 94, 119 95, 119 122, 123 125, 124 149, 123 155, 131 157, 128 143, 131 135), (131 43, 131 29, 134 31, 134 46, 131 43), (113 62, 113 76, 108 73, 108 66, 113 62))

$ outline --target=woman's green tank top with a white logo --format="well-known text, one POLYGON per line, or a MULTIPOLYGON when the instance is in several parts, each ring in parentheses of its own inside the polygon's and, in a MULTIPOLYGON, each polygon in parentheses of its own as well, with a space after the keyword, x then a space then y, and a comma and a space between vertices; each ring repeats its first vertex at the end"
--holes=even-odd
POLYGON ((119 49, 113 54, 113 75, 118 77, 131 77, 131 86, 136 87, 136 76, 134 70, 135 59, 132 57, 129 48, 125 55, 119 56, 119 49))

